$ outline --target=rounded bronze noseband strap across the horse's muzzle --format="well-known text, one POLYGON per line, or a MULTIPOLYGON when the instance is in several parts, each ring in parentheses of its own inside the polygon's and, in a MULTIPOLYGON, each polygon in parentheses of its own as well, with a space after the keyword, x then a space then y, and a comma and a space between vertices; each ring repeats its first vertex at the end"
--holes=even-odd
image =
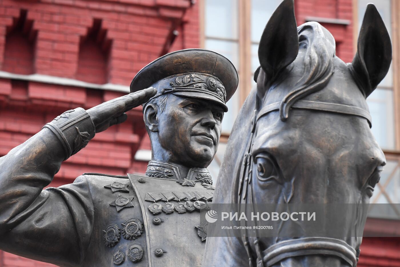
POLYGON ((329 237, 304 237, 276 243, 262 252, 265 267, 283 259, 306 255, 330 255, 340 257, 350 266, 357 265, 356 251, 345 241, 329 237))

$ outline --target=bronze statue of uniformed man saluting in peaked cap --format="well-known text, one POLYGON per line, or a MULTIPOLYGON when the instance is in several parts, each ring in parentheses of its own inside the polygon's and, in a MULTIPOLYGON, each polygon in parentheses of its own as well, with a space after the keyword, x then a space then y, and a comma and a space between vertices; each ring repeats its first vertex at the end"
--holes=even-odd
POLYGON ((196 214, 213 197, 206 167, 237 85, 225 57, 176 51, 144 67, 129 95, 47 123, 0 158, 0 249, 59 266, 200 266, 196 214), (146 176, 83 174, 43 190, 63 160, 142 103, 152 145, 146 176))

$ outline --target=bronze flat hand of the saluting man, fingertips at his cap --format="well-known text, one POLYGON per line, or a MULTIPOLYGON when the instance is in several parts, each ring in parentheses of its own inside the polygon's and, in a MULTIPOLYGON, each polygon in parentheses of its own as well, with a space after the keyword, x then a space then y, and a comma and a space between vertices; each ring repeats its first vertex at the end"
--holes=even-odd
POLYGON ((126 121, 126 111, 146 103, 156 93, 157 90, 155 88, 149 87, 135 93, 111 99, 88 109, 87 112, 93 120, 96 133, 106 130, 111 125, 126 121))

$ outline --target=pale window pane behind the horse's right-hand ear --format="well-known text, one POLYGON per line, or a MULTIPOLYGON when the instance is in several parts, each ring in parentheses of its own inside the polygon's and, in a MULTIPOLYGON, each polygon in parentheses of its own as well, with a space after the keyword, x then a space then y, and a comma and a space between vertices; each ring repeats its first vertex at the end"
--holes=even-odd
MULTIPOLYGON (((379 14, 382 16, 385 26, 388 29, 390 38, 392 38, 392 10, 390 6, 391 0, 379 0, 375 1, 374 5, 378 9, 379 14)), ((358 30, 361 28, 362 20, 367 4, 371 3, 371 0, 358 0, 358 30)), ((381 81, 380 86, 393 87, 393 69, 390 65, 390 69, 386 77, 381 81)))

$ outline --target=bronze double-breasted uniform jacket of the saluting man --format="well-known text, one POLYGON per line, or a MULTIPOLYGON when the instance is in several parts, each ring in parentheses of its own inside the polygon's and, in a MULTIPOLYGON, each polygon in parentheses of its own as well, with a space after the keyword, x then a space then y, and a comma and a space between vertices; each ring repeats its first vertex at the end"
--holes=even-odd
POLYGON ((59 266, 200 266, 204 223, 178 204, 211 201, 212 186, 159 178, 151 167, 154 177, 84 174, 43 190, 65 151, 44 128, 0 158, 0 249, 59 266))

